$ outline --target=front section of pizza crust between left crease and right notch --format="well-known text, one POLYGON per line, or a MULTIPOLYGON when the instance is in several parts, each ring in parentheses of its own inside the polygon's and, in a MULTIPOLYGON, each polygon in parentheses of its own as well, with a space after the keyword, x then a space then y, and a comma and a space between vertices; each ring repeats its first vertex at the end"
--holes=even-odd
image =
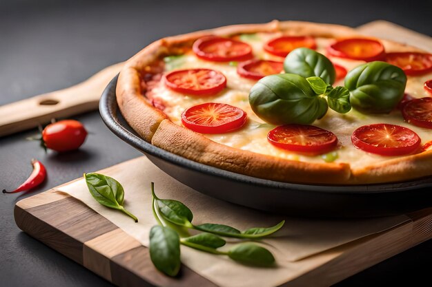
POLYGON ((346 182, 351 175, 348 164, 311 164, 239 150, 179 128, 170 120, 161 122, 152 145, 196 162, 266 180, 332 184, 346 182))

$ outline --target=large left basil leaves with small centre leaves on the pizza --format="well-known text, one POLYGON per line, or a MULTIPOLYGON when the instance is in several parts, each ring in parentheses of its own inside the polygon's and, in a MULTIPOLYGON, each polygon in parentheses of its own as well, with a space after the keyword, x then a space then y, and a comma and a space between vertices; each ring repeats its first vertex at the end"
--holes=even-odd
POLYGON ((249 103, 259 118, 273 125, 308 125, 322 118, 328 107, 342 114, 351 109, 345 87, 333 89, 319 76, 296 74, 262 78, 252 87, 249 103))

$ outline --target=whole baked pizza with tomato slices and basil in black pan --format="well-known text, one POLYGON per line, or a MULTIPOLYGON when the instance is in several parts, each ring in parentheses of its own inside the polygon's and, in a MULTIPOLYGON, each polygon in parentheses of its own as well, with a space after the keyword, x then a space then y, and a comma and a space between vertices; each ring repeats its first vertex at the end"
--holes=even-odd
POLYGON ((121 114, 152 145, 300 184, 432 176, 432 55, 340 25, 232 25, 126 62, 121 114))

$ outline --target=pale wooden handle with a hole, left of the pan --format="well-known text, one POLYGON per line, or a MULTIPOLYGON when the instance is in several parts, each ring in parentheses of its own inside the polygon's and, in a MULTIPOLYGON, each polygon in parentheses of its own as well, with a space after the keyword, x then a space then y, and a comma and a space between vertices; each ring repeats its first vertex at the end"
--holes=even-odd
POLYGON ((59 91, 33 96, 0 107, 0 136, 97 109, 104 88, 124 63, 106 67, 86 81, 59 91))

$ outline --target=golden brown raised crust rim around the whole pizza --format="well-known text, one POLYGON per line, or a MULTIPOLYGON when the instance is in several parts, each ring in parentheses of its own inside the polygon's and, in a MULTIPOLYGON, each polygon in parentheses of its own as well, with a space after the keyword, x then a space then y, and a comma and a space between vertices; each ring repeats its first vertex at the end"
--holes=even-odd
MULTIPOLYGON (((160 56, 181 53, 201 36, 277 31, 324 37, 358 35, 355 30, 340 25, 272 21, 232 25, 161 39, 133 56, 121 71, 117 83, 117 102, 121 113, 144 140, 157 147, 196 162, 257 178, 311 184, 369 184, 400 182, 432 175, 432 151, 351 170, 349 164, 298 162, 235 149, 175 125, 141 95, 141 71, 146 65, 160 56)), ((418 50, 391 41, 381 41, 389 52, 418 50)))

